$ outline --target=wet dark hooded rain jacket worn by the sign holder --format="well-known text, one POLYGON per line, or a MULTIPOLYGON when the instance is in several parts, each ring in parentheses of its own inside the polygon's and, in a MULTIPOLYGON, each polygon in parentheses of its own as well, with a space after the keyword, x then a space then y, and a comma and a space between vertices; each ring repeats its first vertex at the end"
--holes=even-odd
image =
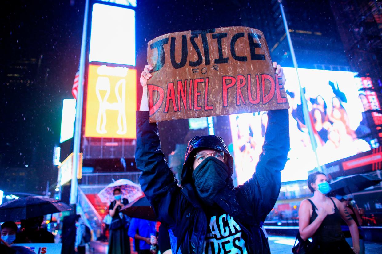
MULTIPOLYGON (((199 148, 220 150, 228 157, 227 165, 232 175, 233 159, 226 145, 217 136, 192 139, 186 151, 181 188, 160 148, 157 124, 149 123, 147 111, 137 112, 136 131, 135 160, 137 168, 142 171, 139 177, 142 190, 154 207, 159 221, 171 228, 178 238, 177 248, 180 252, 202 254, 207 233, 207 215, 197 197, 191 167, 199 148)), ((236 188, 231 180, 215 197, 215 203, 235 218, 243 231, 248 253, 270 253, 261 226, 280 192, 280 171, 285 166, 289 151, 288 109, 268 112, 262 149, 253 177, 236 188)))

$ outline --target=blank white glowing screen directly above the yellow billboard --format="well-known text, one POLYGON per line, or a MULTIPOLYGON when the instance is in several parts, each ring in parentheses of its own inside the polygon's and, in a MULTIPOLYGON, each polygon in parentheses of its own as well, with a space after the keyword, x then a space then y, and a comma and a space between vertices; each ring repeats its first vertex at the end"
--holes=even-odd
POLYGON ((89 62, 135 66, 135 11, 95 3, 92 12, 89 62))

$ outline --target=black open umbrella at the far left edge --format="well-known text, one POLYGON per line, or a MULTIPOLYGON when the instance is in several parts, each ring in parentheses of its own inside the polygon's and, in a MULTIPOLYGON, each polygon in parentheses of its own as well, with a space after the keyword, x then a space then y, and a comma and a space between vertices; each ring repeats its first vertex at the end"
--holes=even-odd
POLYGON ((0 205, 0 221, 28 219, 71 209, 54 198, 27 196, 0 205))

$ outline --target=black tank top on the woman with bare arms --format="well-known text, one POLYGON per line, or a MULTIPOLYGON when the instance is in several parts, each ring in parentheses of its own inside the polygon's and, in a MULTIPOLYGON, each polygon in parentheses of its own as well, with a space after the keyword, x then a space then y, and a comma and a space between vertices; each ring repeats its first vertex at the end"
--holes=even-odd
MULTIPOLYGON (((332 200, 332 198, 330 198, 330 200, 332 200)), ((308 199, 308 201, 312 204, 313 210, 309 223, 311 224, 318 216, 316 212, 316 210, 318 209, 310 199, 308 199)), ((338 210, 333 200, 332 202, 334 205, 334 213, 328 214, 325 217, 320 227, 313 235, 313 239, 317 242, 331 243, 335 241, 345 240, 345 236, 343 235, 343 232, 341 230, 342 217, 340 215, 340 211, 338 210)))

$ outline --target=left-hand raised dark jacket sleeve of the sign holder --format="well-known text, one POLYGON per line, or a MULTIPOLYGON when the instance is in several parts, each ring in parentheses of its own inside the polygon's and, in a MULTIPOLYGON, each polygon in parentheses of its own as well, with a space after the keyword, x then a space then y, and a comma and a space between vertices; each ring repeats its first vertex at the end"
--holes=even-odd
POLYGON ((157 124, 149 123, 148 111, 137 111, 136 119, 135 161, 137 168, 142 171, 139 182, 157 216, 160 216, 159 210, 161 206, 165 208, 170 204, 169 199, 172 198, 177 182, 160 148, 157 124))

